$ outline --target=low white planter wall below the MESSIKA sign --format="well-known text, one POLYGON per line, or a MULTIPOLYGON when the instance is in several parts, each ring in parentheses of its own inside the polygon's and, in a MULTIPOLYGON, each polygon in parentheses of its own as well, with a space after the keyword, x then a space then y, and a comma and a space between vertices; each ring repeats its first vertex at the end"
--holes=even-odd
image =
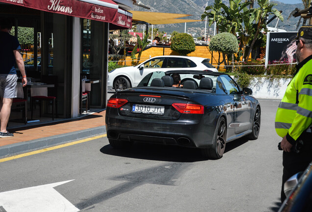
POLYGON ((291 78, 267 79, 265 77, 255 77, 252 79, 249 88, 253 90, 253 96, 256 98, 281 100, 290 80, 291 78))

